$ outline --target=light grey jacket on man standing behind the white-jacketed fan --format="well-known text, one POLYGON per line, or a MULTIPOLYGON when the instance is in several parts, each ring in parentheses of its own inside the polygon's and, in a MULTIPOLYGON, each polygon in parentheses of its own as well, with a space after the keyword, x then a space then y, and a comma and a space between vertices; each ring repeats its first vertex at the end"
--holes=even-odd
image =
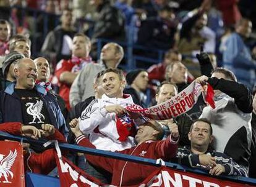
POLYGON ((105 69, 104 63, 89 63, 80 71, 70 88, 69 103, 71 107, 95 95, 93 80, 97 73, 105 69))

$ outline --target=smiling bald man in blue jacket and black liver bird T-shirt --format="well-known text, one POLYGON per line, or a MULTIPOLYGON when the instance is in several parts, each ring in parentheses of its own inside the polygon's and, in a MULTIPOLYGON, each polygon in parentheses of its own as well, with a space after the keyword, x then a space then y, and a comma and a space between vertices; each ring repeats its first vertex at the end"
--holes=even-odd
POLYGON ((38 77, 35 62, 30 58, 17 60, 14 65, 16 82, 1 92, 0 122, 21 122, 41 129, 42 124, 52 124, 64 135, 67 128, 54 95, 45 87, 36 85, 38 77))

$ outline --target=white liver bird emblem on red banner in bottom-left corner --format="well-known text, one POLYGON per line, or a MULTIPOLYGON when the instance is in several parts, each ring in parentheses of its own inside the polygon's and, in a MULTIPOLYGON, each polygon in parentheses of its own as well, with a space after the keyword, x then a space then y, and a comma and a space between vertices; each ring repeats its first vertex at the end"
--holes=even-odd
POLYGON ((15 149, 14 152, 10 150, 10 153, 6 157, 4 156, 5 154, 0 154, 0 178, 4 177, 2 183, 12 183, 8 180, 8 177, 14 178, 11 167, 14 165, 15 158, 17 157, 17 150, 15 149))

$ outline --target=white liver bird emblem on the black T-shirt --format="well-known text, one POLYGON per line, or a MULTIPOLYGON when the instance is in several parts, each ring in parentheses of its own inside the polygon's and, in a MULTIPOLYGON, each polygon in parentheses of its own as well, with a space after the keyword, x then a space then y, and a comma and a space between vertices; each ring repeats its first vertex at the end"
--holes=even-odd
POLYGON ((43 101, 36 101, 36 103, 26 103, 25 106, 28 106, 27 108, 27 113, 30 114, 31 116, 33 116, 33 121, 29 122, 29 124, 35 124, 35 120, 38 119, 37 123, 43 123, 43 121, 41 121, 41 118, 45 119, 45 116, 43 116, 43 114, 41 114, 41 110, 43 108, 43 101))

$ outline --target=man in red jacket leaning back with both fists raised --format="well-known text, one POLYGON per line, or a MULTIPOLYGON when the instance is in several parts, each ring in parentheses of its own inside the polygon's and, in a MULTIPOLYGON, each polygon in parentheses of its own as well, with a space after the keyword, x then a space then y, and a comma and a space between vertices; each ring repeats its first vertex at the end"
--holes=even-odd
MULTIPOLYGON (((79 130, 78 119, 70 122, 70 129, 75 135, 75 141, 80 146, 95 148, 90 141, 79 130)), ((137 146, 117 153, 130 154, 132 156, 146 157, 150 159, 163 159, 168 161, 175 156, 177 151, 177 141, 179 140, 179 132, 176 124, 169 124, 169 135, 166 140, 163 138, 163 128, 156 121, 148 121, 140 125, 135 140, 137 146), (161 140, 161 141, 157 141, 161 140)), ((86 159, 98 168, 107 170, 112 173, 111 185, 130 186, 141 183, 148 177, 156 167, 150 165, 137 164, 134 162, 121 161, 107 157, 86 155, 86 159)))

